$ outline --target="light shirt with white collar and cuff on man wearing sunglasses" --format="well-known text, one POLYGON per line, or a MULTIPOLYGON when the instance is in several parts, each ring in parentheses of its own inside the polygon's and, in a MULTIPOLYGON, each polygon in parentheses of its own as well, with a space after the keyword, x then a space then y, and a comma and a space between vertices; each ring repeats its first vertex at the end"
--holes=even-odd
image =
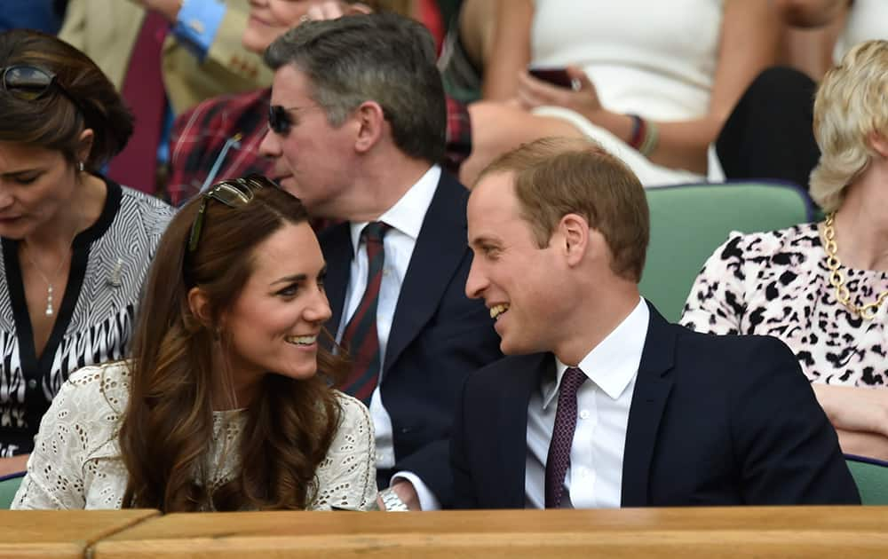
MULTIPOLYGON (((377 221, 385 222, 392 227, 385 233, 383 247, 385 249, 385 265, 383 278, 379 287, 379 299, 377 301, 377 336, 379 339, 379 356, 381 363, 385 363, 385 349, 388 345, 389 333, 392 331, 392 319, 395 306, 398 303, 400 287, 404 283, 413 249, 416 247, 416 239, 423 227, 425 213, 432 204, 432 198, 438 188, 441 169, 438 165, 432 166, 420 177, 415 185, 411 186, 407 193, 395 202, 392 208, 377 218, 377 221)), ((368 222, 351 223, 353 259, 352 268, 348 279, 348 288, 345 291, 345 312, 339 321, 337 342, 342 339, 345 325, 352 318, 354 311, 361 303, 361 297, 367 288, 367 248, 361 243, 361 231, 368 222)), ((384 371, 380 367, 379 381, 382 382, 384 371)), ((373 418, 373 427, 377 434, 377 468, 387 469, 394 467, 394 443, 392 441, 392 418, 385 411, 382 394, 377 384, 370 398, 370 416, 373 418)), ((405 477, 414 484, 419 493, 420 503, 423 509, 440 508, 434 494, 419 480, 416 475, 409 472, 399 472, 397 476, 405 477), (424 490, 424 491, 423 491, 424 490)))

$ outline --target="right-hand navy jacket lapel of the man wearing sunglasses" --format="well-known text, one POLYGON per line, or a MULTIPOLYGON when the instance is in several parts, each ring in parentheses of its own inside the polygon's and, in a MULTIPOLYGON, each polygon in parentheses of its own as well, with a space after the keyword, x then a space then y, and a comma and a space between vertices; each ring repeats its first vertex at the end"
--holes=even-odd
MULTIPOLYGON (((465 204, 468 191, 446 172, 441 173, 392 319, 392 332, 385 349, 384 371, 422 331, 438 308, 441 297, 467 248, 465 204)), ((385 375, 383 382, 388 378, 385 375)))

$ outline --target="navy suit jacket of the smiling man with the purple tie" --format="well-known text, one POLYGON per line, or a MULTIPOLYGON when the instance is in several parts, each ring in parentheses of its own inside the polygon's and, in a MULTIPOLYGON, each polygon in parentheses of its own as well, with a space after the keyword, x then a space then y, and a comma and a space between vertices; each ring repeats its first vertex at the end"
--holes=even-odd
MULTIPOLYGON (((623 507, 859 504, 836 431, 792 351, 704 335, 651 309, 630 404, 623 507)), ((467 380, 454 424, 455 508, 524 508, 527 404, 550 353, 467 380)))

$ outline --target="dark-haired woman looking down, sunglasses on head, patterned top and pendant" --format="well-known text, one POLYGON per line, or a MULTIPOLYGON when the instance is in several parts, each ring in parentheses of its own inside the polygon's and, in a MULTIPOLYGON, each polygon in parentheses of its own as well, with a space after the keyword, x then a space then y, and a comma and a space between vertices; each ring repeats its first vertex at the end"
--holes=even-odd
POLYGON ((75 369, 119 359, 172 210, 95 174, 130 138, 105 75, 51 35, 0 33, 0 475, 75 369))

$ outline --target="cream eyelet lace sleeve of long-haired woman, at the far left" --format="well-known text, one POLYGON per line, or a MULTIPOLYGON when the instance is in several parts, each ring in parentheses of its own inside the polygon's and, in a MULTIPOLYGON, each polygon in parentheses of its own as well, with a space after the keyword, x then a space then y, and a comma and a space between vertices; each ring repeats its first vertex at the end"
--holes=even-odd
POLYGON ((101 369, 87 367, 71 375, 40 421, 28 471, 12 508, 84 508, 84 462, 99 439, 110 436, 99 390, 101 369))

